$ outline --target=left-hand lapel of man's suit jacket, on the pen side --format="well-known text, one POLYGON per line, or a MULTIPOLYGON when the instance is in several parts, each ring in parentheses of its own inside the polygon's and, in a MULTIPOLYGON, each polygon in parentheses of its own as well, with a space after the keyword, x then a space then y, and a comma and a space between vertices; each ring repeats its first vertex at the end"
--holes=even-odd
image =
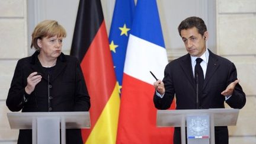
POLYGON ((191 66, 191 58, 190 55, 187 54, 181 58, 181 68, 183 69, 185 76, 187 76, 188 81, 193 85, 194 89, 196 89, 196 84, 194 82, 194 75, 191 66))

